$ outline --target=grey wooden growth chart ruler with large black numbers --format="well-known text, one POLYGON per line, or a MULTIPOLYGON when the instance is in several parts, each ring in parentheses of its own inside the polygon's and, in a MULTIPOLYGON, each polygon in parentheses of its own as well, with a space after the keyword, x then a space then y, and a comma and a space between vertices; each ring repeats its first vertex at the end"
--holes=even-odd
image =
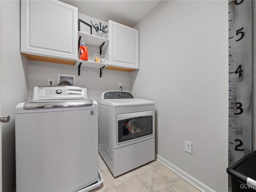
MULTIPOLYGON (((228 166, 252 152, 252 1, 228 1, 228 166)), ((228 178, 231 189, 230 176, 228 178)))

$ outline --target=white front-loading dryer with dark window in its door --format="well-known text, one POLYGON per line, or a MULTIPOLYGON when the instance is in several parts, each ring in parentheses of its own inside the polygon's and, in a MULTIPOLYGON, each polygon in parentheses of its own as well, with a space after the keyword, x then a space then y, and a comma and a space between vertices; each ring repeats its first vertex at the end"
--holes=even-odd
POLYGON ((155 159, 154 102, 127 91, 102 93, 99 153, 116 177, 155 159))

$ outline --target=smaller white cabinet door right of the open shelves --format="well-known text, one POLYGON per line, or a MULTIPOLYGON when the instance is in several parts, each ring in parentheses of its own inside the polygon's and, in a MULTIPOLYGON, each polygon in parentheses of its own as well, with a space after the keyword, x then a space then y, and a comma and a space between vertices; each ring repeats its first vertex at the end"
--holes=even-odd
POLYGON ((109 21, 109 63, 122 68, 139 68, 139 31, 109 21))

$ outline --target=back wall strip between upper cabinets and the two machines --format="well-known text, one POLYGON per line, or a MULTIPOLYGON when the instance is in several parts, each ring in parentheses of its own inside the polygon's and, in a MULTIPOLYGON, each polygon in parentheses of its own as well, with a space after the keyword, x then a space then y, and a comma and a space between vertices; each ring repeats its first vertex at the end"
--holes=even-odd
POLYGON ((35 86, 47 86, 48 79, 54 79, 56 85, 58 73, 76 75, 76 86, 87 88, 88 99, 97 102, 104 91, 118 90, 118 83, 123 84, 123 90, 131 89, 129 72, 103 70, 100 78, 100 69, 81 67, 80 76, 78 76, 78 67, 75 66, 29 61, 29 100, 32 99, 35 86))

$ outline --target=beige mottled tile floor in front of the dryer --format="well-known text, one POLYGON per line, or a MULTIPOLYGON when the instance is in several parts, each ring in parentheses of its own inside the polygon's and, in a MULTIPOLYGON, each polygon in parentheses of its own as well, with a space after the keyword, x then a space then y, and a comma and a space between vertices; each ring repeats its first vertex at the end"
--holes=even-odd
POLYGON ((104 181, 91 192, 199 192, 156 160, 114 178, 99 155, 99 170, 104 181))

